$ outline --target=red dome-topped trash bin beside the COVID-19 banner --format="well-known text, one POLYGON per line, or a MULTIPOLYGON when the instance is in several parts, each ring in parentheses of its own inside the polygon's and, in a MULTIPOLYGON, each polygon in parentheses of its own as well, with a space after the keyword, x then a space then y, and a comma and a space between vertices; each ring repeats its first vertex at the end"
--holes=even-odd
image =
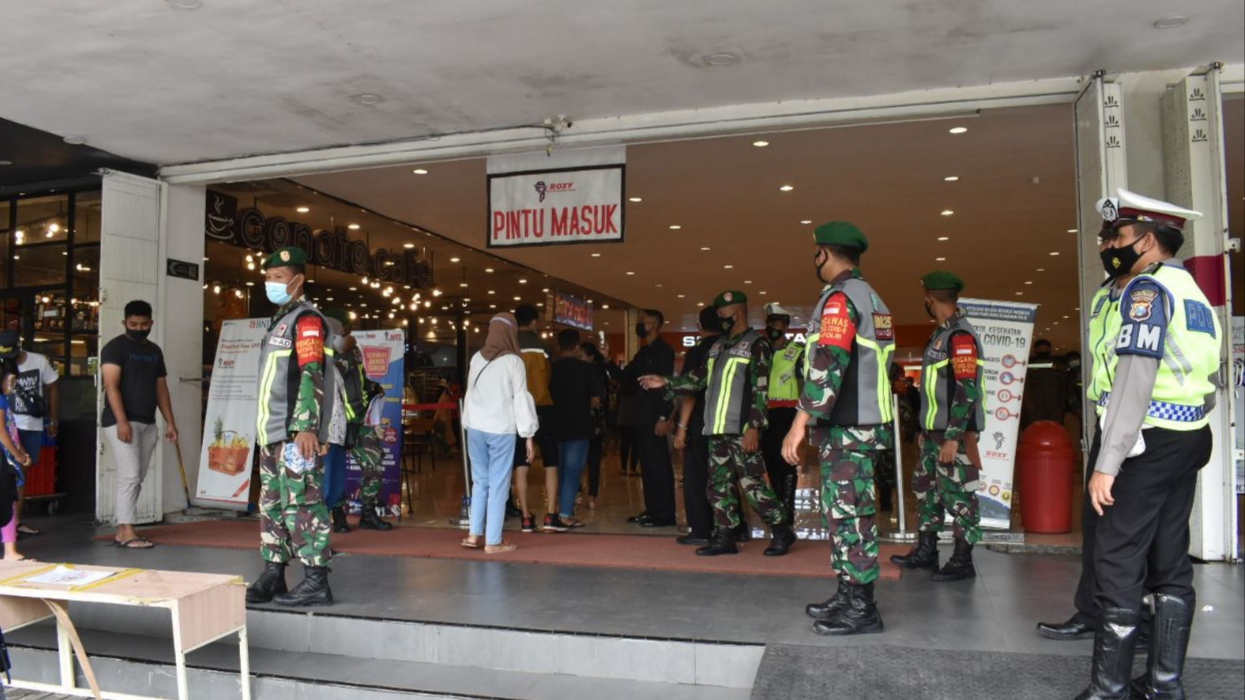
POLYGON ((1025 428, 1016 450, 1020 470, 1021 522, 1026 532, 1072 532, 1072 477, 1076 452, 1068 431, 1055 421, 1025 428))

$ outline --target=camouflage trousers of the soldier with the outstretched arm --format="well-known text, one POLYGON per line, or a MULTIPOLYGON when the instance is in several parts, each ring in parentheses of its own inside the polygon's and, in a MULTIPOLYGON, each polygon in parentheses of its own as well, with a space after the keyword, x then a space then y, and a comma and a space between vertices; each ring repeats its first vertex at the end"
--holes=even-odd
POLYGON ((766 460, 761 456, 761 450, 745 452, 743 437, 740 435, 710 436, 706 496, 713 506, 713 523, 720 528, 740 527, 736 482, 761 519, 769 524, 788 521, 787 509, 778 502, 773 488, 766 481, 766 460))

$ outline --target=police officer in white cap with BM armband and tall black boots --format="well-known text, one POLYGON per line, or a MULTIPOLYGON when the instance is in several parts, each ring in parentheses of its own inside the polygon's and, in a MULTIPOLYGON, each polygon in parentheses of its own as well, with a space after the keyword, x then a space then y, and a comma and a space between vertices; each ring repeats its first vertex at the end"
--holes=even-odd
POLYGON ((1139 608, 1149 587, 1153 623, 1145 675, 1134 698, 1184 698, 1195 595, 1189 514, 1198 471, 1210 460, 1206 414, 1220 366, 1219 319, 1175 258, 1182 229, 1201 214, 1119 191, 1101 213, 1118 235, 1103 255, 1108 274, 1135 273, 1124 289, 1101 450, 1088 498, 1099 516, 1093 567, 1098 620, 1089 686, 1078 700, 1129 698, 1139 608), (1162 631, 1162 634, 1160 634, 1162 631))

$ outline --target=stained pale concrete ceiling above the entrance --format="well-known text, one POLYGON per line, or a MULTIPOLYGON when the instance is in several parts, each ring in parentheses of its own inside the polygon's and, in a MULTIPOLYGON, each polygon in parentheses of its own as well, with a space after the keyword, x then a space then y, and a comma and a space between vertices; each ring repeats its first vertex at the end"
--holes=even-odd
POLYGON ((2 11, 0 117, 156 164, 559 113, 884 95, 1245 54, 1239 0, 11 0, 2 11), (1174 14, 1188 24, 1153 29, 1174 14))

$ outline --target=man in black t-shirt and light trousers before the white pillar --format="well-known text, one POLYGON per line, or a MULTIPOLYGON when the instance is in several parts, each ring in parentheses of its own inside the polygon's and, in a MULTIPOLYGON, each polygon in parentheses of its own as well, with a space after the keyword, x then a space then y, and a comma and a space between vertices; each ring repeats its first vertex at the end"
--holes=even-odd
POLYGON ((134 532, 134 507, 159 441, 157 409, 168 426, 164 436, 169 442, 177 442, 177 421, 164 379, 168 374, 164 354, 147 340, 152 305, 139 300, 126 304, 125 325, 126 333, 100 351, 106 397, 100 426, 117 468, 116 543, 129 549, 151 549, 152 542, 134 532))

